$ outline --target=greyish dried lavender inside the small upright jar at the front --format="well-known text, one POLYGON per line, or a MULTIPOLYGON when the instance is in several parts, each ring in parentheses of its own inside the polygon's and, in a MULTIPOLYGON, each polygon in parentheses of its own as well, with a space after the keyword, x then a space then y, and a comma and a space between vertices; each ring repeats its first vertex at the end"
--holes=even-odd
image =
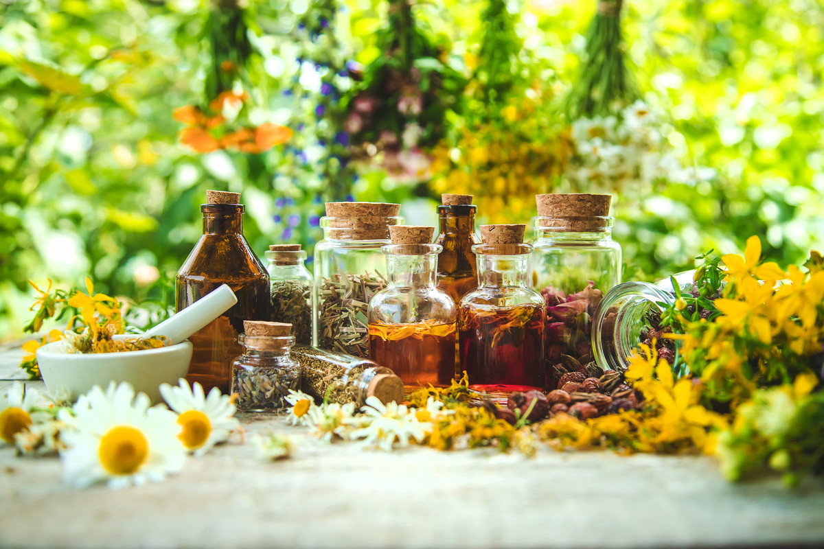
POLYGON ((237 409, 276 410, 288 404, 283 397, 289 389, 297 391, 300 370, 283 366, 254 366, 232 369, 232 393, 237 394, 237 409))

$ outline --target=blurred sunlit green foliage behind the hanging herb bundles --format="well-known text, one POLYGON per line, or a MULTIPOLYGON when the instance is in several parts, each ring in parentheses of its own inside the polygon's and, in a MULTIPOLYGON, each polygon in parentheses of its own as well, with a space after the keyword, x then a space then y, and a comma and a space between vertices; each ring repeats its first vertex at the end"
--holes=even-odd
MULTIPOLYGON (((333 21, 334 48, 301 32, 330 2, 244 2, 254 54, 246 115, 296 134, 262 155, 197 154, 177 143, 181 124, 172 110, 204 103, 215 47, 204 29, 222 2, 0 0, 0 340, 18 336, 28 319, 27 279, 73 286, 89 274, 97 291, 136 300, 159 291, 199 237, 207 188, 243 193, 246 236, 261 256, 273 242, 311 245, 321 237, 327 171, 295 160, 325 154, 317 132, 307 135, 316 106, 292 90, 307 56, 368 65, 381 55, 386 2, 344 2, 333 21)), ((465 77, 481 38, 498 23, 481 17, 487 3, 414 5, 441 60, 465 77)), ((562 96, 595 3, 513 0, 506 8, 527 71, 562 96)), ((822 4, 631 0, 623 28, 640 93, 668 114, 665 137, 686 165, 715 170, 691 184, 620 197, 615 237, 635 275, 690 268, 695 255, 742 249, 753 234, 782 264, 820 249, 822 4)), ((359 171, 351 188, 336 192, 402 202, 407 221, 436 222, 426 184, 359 171)), ((482 221, 496 215, 480 212, 482 221)))

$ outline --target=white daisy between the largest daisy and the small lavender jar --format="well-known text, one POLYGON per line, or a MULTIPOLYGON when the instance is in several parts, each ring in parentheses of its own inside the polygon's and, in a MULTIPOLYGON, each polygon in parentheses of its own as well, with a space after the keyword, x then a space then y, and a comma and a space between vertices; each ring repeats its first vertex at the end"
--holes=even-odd
POLYGON ((162 384, 160 393, 169 407, 180 414, 177 422, 183 430, 179 438, 187 450, 201 456, 215 444, 225 442, 232 431, 240 430, 232 397, 222 395, 217 387, 204 396, 201 384, 195 382, 193 390, 183 378, 178 384, 178 387, 162 384))

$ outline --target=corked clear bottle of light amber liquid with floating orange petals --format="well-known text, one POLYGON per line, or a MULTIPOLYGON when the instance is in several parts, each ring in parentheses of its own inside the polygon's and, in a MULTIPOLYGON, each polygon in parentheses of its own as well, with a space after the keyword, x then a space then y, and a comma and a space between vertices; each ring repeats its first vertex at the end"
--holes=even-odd
POLYGON ((392 244, 383 246, 389 286, 369 303, 369 357, 387 366, 411 393, 432 384, 448 387, 455 379, 456 307, 435 286, 439 244, 434 227, 389 228, 392 244))

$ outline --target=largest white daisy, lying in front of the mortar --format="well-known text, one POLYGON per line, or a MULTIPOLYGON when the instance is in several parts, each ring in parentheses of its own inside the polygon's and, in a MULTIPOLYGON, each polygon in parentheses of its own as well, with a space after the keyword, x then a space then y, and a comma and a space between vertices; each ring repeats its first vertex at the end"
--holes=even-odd
POLYGON ((162 481, 183 468, 186 450, 180 444, 177 416, 160 405, 149 407, 144 393, 130 384, 98 386, 82 395, 74 416, 59 418, 76 430, 64 430, 68 446, 60 454, 63 478, 79 488, 107 480, 110 488, 162 481))

